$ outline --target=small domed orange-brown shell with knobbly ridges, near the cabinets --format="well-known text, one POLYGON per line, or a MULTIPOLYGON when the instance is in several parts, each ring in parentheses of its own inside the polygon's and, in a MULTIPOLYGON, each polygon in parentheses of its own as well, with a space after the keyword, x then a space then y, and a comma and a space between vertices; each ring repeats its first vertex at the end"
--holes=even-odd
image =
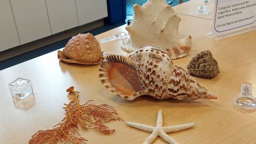
POLYGON ((103 55, 97 39, 87 33, 69 39, 63 51, 58 51, 58 59, 69 63, 95 65, 100 63, 103 55))

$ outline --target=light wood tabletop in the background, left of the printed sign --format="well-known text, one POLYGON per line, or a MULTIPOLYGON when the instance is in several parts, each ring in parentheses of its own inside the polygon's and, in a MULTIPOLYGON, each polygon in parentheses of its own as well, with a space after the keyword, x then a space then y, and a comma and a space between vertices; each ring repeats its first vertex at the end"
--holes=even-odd
POLYGON ((173 6, 173 9, 178 14, 190 15, 193 17, 213 20, 214 2, 215 0, 211 0, 209 4, 205 4, 204 0, 190 0, 185 3, 173 6), (210 13, 209 14, 199 13, 197 11, 199 5, 205 5, 205 7, 210 10, 210 13))

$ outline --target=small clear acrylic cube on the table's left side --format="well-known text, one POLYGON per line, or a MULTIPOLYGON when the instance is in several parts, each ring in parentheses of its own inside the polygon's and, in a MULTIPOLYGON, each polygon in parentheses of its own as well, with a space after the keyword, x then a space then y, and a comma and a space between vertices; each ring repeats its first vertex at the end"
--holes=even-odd
POLYGON ((9 83, 9 88, 12 97, 25 99, 29 95, 33 94, 33 89, 29 79, 17 78, 13 82, 9 83))

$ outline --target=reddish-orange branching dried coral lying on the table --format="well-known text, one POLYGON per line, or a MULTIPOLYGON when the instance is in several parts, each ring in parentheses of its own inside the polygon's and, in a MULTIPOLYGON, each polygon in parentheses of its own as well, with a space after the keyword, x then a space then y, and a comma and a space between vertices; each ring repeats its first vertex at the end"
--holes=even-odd
POLYGON ((84 105, 79 104, 78 93, 74 91, 71 86, 67 92, 73 93, 75 98, 71 100, 68 105, 64 104, 63 109, 66 111, 66 116, 61 123, 55 125, 52 130, 38 131, 29 140, 29 144, 34 143, 75 143, 83 144, 87 140, 80 137, 75 137, 78 134, 78 126, 83 130, 93 129, 99 133, 111 134, 115 130, 108 129, 104 124, 111 121, 120 121, 122 118, 118 117, 116 110, 108 105, 92 105, 89 104, 92 100, 86 102, 84 105))

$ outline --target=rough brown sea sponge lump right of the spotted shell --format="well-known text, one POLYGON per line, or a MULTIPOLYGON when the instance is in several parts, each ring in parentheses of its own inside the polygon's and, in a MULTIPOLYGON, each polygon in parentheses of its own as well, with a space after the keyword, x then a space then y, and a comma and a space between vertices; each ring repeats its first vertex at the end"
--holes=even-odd
POLYGON ((190 60, 187 69, 190 75, 203 78, 214 78, 220 73, 218 62, 212 57, 210 50, 196 54, 190 60))

